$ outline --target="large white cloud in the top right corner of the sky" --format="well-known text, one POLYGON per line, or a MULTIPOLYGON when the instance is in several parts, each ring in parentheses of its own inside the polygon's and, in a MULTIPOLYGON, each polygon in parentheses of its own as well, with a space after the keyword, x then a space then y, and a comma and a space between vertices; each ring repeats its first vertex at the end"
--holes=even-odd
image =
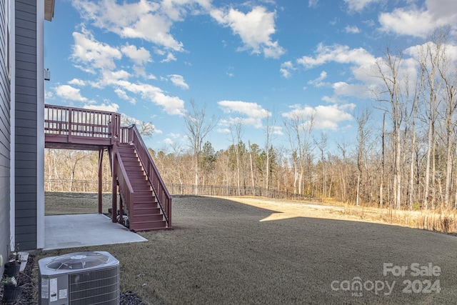
POLYGON ((441 26, 457 30, 457 1, 426 0, 424 8, 415 4, 379 15, 381 31, 398 35, 426 37, 441 26))

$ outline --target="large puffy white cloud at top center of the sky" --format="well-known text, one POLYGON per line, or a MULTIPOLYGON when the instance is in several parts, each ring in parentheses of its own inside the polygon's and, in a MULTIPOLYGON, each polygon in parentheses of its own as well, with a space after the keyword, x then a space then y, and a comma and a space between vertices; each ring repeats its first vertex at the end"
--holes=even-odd
POLYGON ((233 34, 240 36, 244 46, 238 48, 238 51, 251 50, 253 54, 263 52, 263 56, 271 58, 278 58, 285 53, 278 41, 271 40, 271 35, 276 32, 276 13, 266 11, 263 6, 255 6, 247 14, 233 8, 229 11, 213 9, 211 16, 219 24, 229 26, 233 34))

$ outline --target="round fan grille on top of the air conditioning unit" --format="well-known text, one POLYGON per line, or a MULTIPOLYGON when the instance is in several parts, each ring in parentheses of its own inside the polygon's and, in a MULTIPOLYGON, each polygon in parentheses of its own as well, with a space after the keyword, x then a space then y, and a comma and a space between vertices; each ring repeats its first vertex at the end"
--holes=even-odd
POLYGON ((46 264, 46 267, 54 270, 86 269, 105 264, 108 260, 109 256, 98 252, 76 252, 56 256, 55 259, 46 264))

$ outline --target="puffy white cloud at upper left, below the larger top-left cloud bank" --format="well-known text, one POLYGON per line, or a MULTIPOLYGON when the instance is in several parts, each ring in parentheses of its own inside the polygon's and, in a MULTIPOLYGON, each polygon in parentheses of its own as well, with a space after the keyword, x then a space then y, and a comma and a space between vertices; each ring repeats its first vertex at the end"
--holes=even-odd
POLYGON ((95 69, 116 68, 114 60, 121 59, 122 54, 119 49, 101 43, 94 39, 91 33, 83 30, 83 33, 74 32, 73 54, 71 57, 82 64, 89 71, 95 69))

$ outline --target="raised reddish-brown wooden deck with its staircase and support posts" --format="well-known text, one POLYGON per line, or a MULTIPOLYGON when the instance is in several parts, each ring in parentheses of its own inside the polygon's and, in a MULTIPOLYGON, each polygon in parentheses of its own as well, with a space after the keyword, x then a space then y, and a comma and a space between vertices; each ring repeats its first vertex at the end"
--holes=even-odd
POLYGON ((99 151, 99 214, 101 211, 101 164, 108 151, 113 176, 112 211, 117 218, 129 216, 132 231, 171 228, 171 196, 135 125, 121 127, 114 112, 45 105, 44 139, 49 149, 99 151), (123 161, 124 159, 124 161, 123 161), (125 165, 124 165, 125 164, 125 165), (145 197, 149 197, 145 199, 145 197))

